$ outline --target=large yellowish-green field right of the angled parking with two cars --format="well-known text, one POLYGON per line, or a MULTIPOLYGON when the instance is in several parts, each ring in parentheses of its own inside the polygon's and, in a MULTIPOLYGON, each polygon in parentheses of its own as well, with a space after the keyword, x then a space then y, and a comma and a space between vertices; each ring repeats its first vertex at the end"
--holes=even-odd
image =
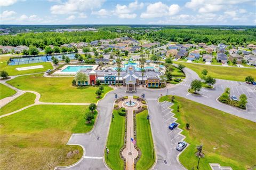
MULTIPOLYGON (((163 96, 159 102, 170 101, 163 96)), ((255 165, 256 124, 217 109, 175 96, 172 106, 177 122, 190 143, 181 153, 179 160, 187 169, 196 168, 198 158, 196 146, 203 144, 204 158, 200 160, 200 169, 211 170, 209 163, 220 163, 233 169, 245 170, 255 165), (180 112, 177 112, 179 104, 180 112), (185 124, 190 124, 190 129, 185 124), (189 160, 189 161, 188 161, 189 160)))

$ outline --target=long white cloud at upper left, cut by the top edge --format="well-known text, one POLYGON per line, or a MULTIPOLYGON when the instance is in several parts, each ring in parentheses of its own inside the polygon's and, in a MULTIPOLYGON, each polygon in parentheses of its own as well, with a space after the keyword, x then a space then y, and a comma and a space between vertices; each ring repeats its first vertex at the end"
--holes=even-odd
POLYGON ((101 7, 105 0, 68 0, 60 5, 51 6, 52 14, 74 14, 101 7))

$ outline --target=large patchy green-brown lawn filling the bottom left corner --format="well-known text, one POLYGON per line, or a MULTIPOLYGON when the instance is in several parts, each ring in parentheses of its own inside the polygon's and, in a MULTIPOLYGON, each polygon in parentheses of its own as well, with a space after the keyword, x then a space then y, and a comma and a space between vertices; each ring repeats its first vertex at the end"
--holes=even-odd
POLYGON ((53 169, 76 163, 83 155, 66 145, 72 133, 91 131, 85 124, 87 106, 38 105, 1 118, 1 169, 53 169), (69 151, 79 153, 71 158, 69 151))

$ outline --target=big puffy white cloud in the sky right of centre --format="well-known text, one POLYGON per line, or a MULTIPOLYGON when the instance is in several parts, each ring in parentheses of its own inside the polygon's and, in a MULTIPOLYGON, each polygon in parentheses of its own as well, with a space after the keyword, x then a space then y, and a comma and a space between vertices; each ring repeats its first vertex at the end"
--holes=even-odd
POLYGON ((177 4, 167 6, 162 2, 156 2, 154 4, 149 4, 147 6, 147 11, 142 12, 140 17, 141 18, 159 18, 163 16, 175 15, 179 11, 180 11, 180 6, 177 4))

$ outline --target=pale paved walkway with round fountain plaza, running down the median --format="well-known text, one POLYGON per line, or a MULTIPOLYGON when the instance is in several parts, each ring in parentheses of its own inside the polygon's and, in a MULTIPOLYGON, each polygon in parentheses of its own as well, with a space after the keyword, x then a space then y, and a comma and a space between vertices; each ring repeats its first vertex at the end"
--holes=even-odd
POLYGON ((134 148, 134 144, 131 139, 133 136, 133 110, 137 110, 138 107, 142 106, 142 103, 137 102, 133 99, 133 96, 129 96, 127 100, 120 103, 121 107, 127 110, 127 137, 126 137, 126 148, 123 150, 122 155, 126 159, 127 170, 134 169, 134 159, 138 156, 138 151, 134 148))

